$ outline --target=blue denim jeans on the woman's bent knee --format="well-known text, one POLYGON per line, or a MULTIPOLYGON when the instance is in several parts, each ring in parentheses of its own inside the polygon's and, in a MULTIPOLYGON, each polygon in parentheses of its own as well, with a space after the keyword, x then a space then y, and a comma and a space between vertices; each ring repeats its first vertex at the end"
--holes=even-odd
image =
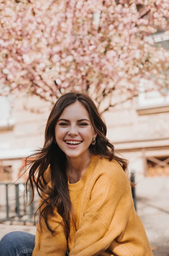
MULTIPOLYGON (((0 256, 32 256, 35 235, 22 231, 10 232, 0 241, 0 256)), ((66 254, 69 255, 68 252, 66 254)))

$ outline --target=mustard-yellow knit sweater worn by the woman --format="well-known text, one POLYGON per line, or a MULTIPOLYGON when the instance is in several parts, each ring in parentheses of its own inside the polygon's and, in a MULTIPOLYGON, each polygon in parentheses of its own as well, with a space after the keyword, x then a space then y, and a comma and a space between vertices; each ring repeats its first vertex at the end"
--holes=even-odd
MULTIPOLYGON (((134 209, 131 186, 116 161, 92 156, 82 180, 68 188, 76 217, 68 243, 64 225, 52 236, 43 222, 35 235, 33 256, 153 256, 143 224, 134 209)), ((62 220, 55 212, 49 224, 62 220)))

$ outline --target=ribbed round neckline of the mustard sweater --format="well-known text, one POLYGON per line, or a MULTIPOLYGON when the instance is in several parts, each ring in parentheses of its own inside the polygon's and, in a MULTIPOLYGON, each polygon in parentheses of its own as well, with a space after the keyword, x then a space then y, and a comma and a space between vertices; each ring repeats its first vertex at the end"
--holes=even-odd
POLYGON ((68 179, 68 189, 69 190, 79 190, 80 188, 82 188, 84 186, 84 184, 86 183, 86 179, 88 176, 90 176, 91 171, 94 169, 95 163, 98 161, 98 158, 100 156, 99 155, 92 155, 91 156, 91 161, 89 166, 87 167, 86 172, 84 173, 83 177, 81 180, 79 180, 76 183, 70 183, 69 182, 69 175, 67 173, 67 179, 68 179))

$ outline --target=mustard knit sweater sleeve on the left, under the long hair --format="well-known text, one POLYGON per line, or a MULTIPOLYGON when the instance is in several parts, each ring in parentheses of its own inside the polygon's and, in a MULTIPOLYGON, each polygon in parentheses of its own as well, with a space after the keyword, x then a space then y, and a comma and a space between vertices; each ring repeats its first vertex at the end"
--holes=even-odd
MULTIPOLYGON (((40 204, 42 199, 40 199, 40 204)), ((66 228, 63 219, 57 210, 53 216, 49 217, 48 223, 52 229, 56 229, 55 234, 46 227, 44 218, 38 223, 37 231, 35 234, 35 247, 32 256, 65 256, 67 252, 67 239, 66 239, 66 228)))

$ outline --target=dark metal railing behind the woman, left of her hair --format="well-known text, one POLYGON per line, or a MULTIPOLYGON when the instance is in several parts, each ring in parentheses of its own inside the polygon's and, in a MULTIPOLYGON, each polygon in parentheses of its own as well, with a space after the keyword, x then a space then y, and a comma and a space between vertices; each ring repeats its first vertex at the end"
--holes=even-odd
MULTIPOLYGON (((39 198, 26 207, 26 185, 24 183, 0 183, 0 221, 22 221, 34 223, 35 206, 39 198), (12 185, 12 186, 11 186, 12 185)), ((28 204, 31 190, 28 191, 28 204)))

